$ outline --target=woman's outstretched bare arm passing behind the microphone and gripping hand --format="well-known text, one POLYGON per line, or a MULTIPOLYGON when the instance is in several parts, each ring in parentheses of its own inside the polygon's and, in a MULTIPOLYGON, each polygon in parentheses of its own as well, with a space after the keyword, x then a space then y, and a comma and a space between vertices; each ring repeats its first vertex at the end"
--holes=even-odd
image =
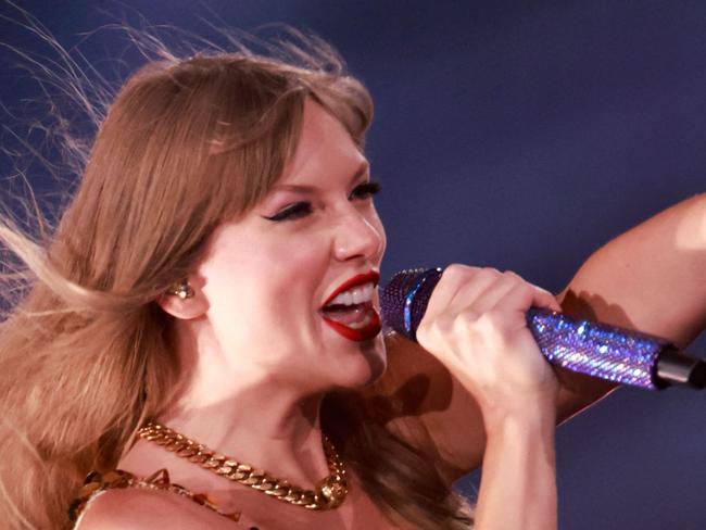
MULTIPOLYGON (((706 194, 701 194, 597 250, 557 300, 570 315, 639 329, 685 346, 706 326, 705 272, 706 194)), ((478 467, 486 432, 475 399, 418 344, 395 335, 387 343, 389 370, 374 390, 404 403, 391 412, 390 429, 423 451, 439 453, 449 480, 478 467)), ((557 421, 613 388, 566 370, 557 370, 557 421)))

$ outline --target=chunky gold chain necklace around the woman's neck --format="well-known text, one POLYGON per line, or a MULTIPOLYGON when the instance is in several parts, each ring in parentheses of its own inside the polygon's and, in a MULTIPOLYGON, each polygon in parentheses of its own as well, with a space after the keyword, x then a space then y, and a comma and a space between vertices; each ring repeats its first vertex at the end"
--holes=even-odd
POLYGON ((324 436, 324 452, 330 475, 324 478, 316 490, 304 490, 291 485, 287 480, 272 477, 262 469, 224 456, 203 444, 189 440, 173 429, 150 421, 137 431, 140 438, 162 445, 181 458, 198 464, 209 471, 278 499, 285 503, 310 509, 331 509, 343 503, 348 494, 345 469, 333 444, 324 436))

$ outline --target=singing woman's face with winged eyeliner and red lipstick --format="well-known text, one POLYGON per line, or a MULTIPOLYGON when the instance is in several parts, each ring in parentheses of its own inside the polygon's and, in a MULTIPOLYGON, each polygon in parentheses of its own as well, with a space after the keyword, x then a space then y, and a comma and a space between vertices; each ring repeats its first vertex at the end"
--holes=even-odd
POLYGON ((198 274, 223 354, 239 375, 304 390, 364 384, 384 370, 377 288, 384 230, 368 164, 343 126, 318 104, 281 179, 243 218, 220 226, 198 274), (348 280, 341 311, 324 305, 348 280), (367 300, 367 302, 366 302, 367 300))

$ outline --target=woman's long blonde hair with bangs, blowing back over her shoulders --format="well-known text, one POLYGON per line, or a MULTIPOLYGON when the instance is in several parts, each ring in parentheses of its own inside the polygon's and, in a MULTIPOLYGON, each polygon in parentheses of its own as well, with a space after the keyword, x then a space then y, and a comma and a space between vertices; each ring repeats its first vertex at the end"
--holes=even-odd
MULTIPOLYGON (((162 53, 110 105, 51 238, 0 227, 26 264, 4 276, 24 291, 0 325, 0 518, 13 527, 65 527, 86 474, 113 468, 137 427, 164 408, 179 365, 172 320, 154 301, 191 270, 218 224, 276 182, 304 101, 320 103, 363 149, 368 92, 328 45, 299 40, 279 48, 286 60, 243 47, 162 53)), ((354 403, 331 396, 324 421, 371 499, 411 527, 467 528, 436 468, 354 403), (341 418, 353 428, 342 432, 341 418)))

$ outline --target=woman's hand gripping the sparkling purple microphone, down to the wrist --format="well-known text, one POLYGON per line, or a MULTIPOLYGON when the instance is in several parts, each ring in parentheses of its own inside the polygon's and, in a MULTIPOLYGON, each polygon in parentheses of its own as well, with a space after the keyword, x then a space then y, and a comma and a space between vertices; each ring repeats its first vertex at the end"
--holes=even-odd
POLYGON ((451 265, 434 288, 417 340, 474 395, 487 425, 554 411, 558 384, 527 328, 531 307, 554 296, 512 272, 451 265))

